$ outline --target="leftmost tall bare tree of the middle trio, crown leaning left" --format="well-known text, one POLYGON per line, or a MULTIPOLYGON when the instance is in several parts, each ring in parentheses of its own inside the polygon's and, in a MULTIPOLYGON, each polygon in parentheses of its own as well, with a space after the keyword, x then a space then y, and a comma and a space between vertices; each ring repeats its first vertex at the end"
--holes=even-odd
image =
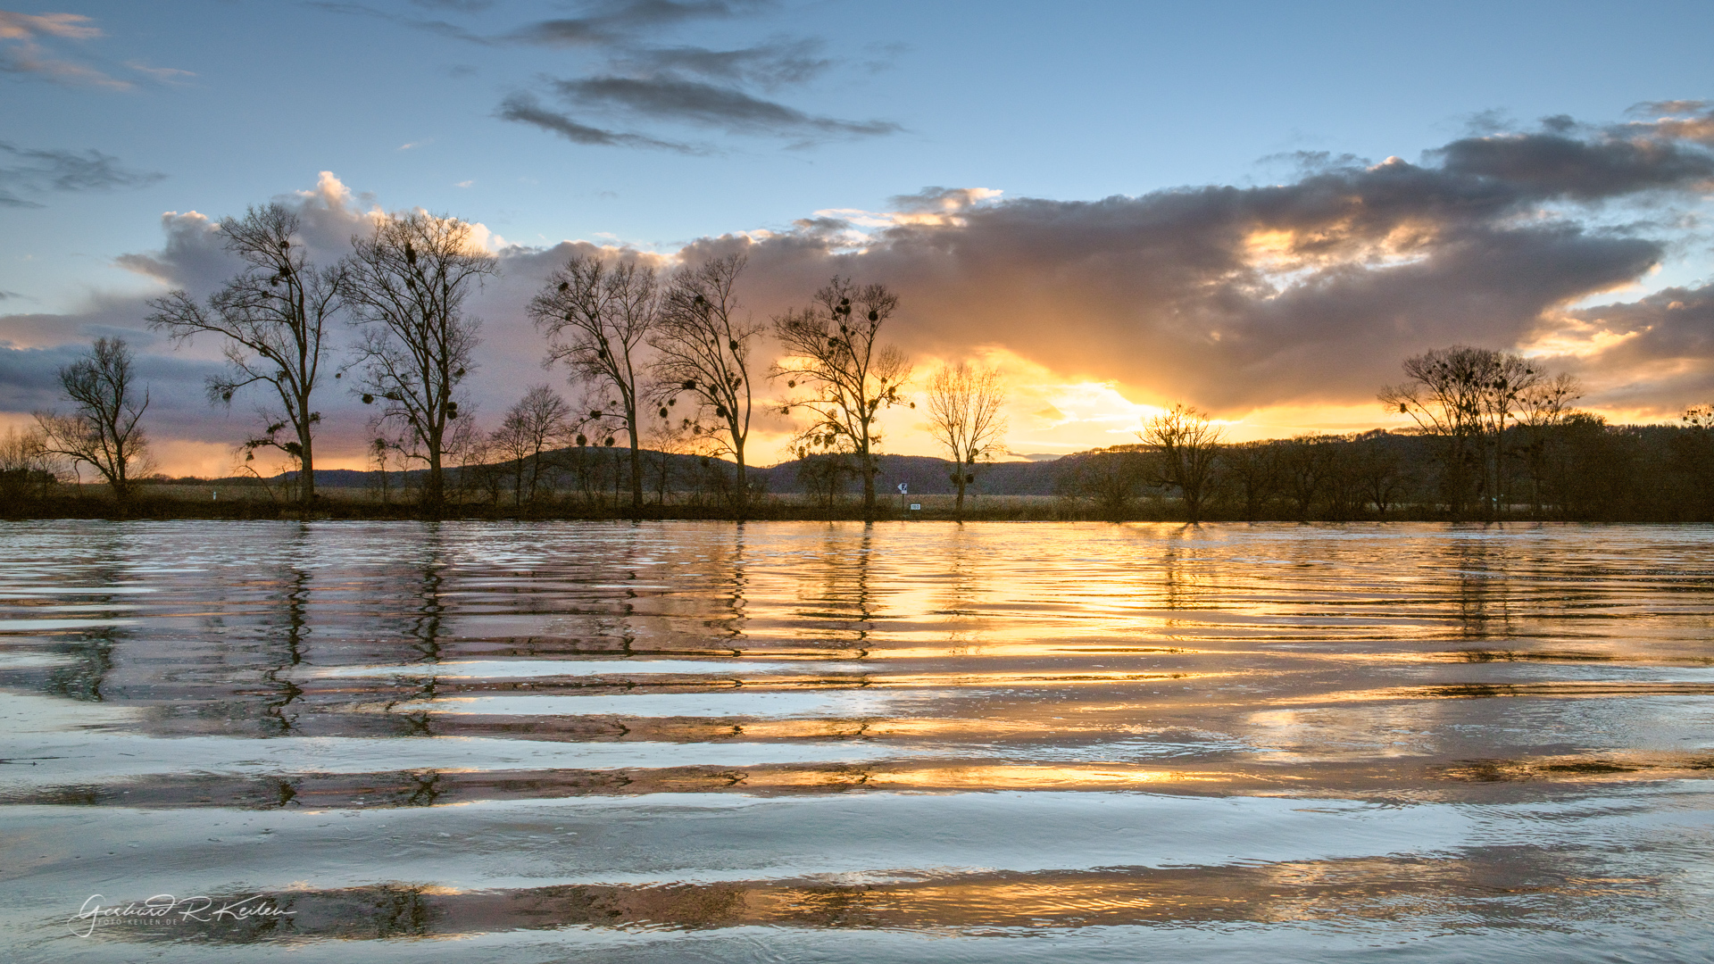
POLYGON ((574 379, 612 391, 617 412, 596 408, 595 420, 617 415, 631 436, 631 511, 643 511, 643 432, 638 403, 644 365, 641 348, 660 317, 660 290, 651 268, 636 261, 608 264, 572 256, 530 302, 530 317, 548 338, 543 365, 564 362, 574 379))

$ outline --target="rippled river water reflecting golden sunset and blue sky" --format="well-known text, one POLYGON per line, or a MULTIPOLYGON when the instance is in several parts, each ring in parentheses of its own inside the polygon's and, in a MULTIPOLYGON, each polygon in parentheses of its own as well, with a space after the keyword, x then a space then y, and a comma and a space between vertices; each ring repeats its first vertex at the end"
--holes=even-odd
POLYGON ((1707 961, 1711 537, 5 525, 0 945, 1707 961))

